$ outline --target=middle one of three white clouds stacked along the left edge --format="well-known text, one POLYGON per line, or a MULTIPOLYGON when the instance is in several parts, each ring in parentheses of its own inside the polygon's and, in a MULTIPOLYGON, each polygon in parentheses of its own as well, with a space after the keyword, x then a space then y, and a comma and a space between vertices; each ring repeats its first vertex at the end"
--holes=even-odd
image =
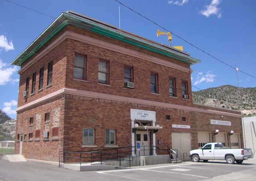
POLYGON ((18 79, 12 79, 12 75, 18 71, 18 67, 7 67, 8 65, 0 59, 0 85, 5 85, 8 82, 15 83, 18 79))

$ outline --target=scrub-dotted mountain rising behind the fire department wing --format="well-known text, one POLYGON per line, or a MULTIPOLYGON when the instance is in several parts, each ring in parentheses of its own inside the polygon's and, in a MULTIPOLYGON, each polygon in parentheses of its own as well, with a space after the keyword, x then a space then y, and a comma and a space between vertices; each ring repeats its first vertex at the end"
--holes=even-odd
MULTIPOLYGON (((243 100, 244 116, 256 115, 256 87, 240 88, 243 100)), ((223 85, 192 92, 193 102, 207 106, 240 110, 240 94, 238 87, 223 85)))

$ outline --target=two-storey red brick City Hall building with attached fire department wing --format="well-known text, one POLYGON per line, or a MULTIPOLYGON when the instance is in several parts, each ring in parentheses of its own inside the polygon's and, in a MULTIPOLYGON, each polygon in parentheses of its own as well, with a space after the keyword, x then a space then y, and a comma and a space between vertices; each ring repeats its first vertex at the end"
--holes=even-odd
POLYGON ((242 147, 240 112, 193 104, 190 65, 199 62, 63 12, 12 62, 21 67, 15 152, 57 161, 59 151, 136 143, 184 152, 215 141, 242 147))

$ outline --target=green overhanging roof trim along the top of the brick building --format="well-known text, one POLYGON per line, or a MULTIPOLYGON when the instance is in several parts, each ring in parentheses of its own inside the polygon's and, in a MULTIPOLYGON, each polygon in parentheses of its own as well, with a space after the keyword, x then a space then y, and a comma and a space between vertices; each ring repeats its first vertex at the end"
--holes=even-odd
POLYGON ((92 31, 100 35, 104 35, 119 41, 123 41, 130 45, 140 47, 155 53, 165 55, 167 57, 172 57, 179 61, 183 61, 190 65, 200 63, 201 61, 190 57, 188 54, 175 51, 169 47, 164 47, 158 45, 157 43, 152 43, 144 39, 129 35, 122 31, 118 31, 117 28, 111 28, 108 24, 102 24, 98 20, 88 18, 84 15, 77 14, 71 11, 63 12, 60 16, 46 28, 46 30, 41 33, 14 61, 12 65, 21 66, 22 63, 27 61, 32 57, 36 52, 38 52, 46 43, 48 43, 57 33, 59 33, 67 25, 73 25, 78 28, 92 31), (76 16, 77 15, 77 16, 76 16))

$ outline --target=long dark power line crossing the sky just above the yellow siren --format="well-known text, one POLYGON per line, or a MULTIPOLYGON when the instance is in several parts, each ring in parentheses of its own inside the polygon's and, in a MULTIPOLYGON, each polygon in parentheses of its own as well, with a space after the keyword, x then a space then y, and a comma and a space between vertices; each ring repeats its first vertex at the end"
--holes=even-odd
MULTIPOLYGON (((156 26, 159 26, 159 27, 161 27, 162 29, 164 29, 164 30, 166 30, 166 31, 169 31, 169 32, 170 32, 170 33, 172 33, 174 36, 176 36, 176 37, 180 38, 181 40, 185 41, 186 43, 190 44, 191 46, 195 47, 196 49, 198 49, 198 50, 202 51, 203 53, 206 53, 206 54, 207 54, 207 55, 209 55, 210 57, 212 57, 212 58, 214 58, 214 59, 216 59, 216 60, 220 61, 221 63, 224 63, 224 64, 225 64, 225 65, 227 65, 228 67, 231 67, 232 69, 235 69, 235 70, 236 70, 236 68, 235 68, 235 67, 233 67, 232 65, 229 65, 228 63, 225 63, 224 61, 221 61, 220 59, 218 59, 218 58, 214 57, 213 55, 211 55, 210 53, 208 53, 208 52, 204 51, 203 49, 200 49, 199 47, 197 47, 196 45, 194 45, 194 44, 190 43, 190 42, 189 42, 189 41, 187 41, 186 39, 183 39, 183 38, 182 38, 182 37, 180 37, 179 35, 176 35, 176 34, 175 34, 175 33, 173 33, 172 31, 167 30, 167 29, 166 29, 166 28, 164 28, 163 26, 161 26, 161 25, 157 24, 157 23, 156 23, 156 22, 154 22, 153 20, 150 20, 149 18, 147 18, 146 16, 143 16, 143 15, 142 15, 142 14, 140 14, 139 12, 137 12, 137 11, 133 10, 132 8, 130 8, 130 7, 128 7, 128 6, 124 5, 124 4, 122 4, 122 2, 120 2, 120 1, 118 1, 118 0, 115 0, 115 1, 116 1, 116 2, 118 2, 119 4, 121 4, 122 6, 124 6, 124 7, 128 8, 128 9, 130 9, 131 11, 135 12, 136 14, 138 14, 138 15, 142 16, 143 18, 147 19, 148 21, 150 21, 150 22, 154 23, 156 26)), ((240 70, 239 70, 239 71, 240 71, 240 70)), ((242 72, 242 73, 244 73, 244 74, 246 74, 246 75, 249 75, 249 76, 251 76, 251 77, 256 78, 255 76, 250 75, 250 74, 248 74, 248 73, 245 73, 244 71, 240 71, 240 72, 242 72)))

